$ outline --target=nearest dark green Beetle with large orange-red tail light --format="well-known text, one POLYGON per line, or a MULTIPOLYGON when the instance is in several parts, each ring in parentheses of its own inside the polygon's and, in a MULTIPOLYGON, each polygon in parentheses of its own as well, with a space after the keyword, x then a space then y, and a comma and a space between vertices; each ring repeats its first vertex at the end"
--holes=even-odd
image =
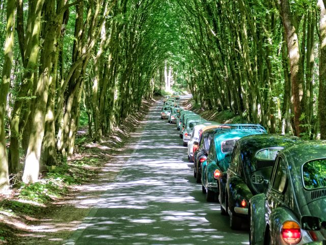
POLYGON ((249 202, 250 244, 324 244, 326 141, 281 150, 266 193, 249 202))

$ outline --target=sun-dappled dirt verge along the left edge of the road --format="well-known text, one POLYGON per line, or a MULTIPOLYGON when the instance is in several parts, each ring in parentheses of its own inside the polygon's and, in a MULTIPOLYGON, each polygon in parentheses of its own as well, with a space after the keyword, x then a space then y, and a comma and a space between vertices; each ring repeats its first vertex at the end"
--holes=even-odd
MULTIPOLYGON (((119 174, 123 164, 117 164, 115 158, 119 158, 121 162, 129 157, 118 154, 125 150, 125 142, 140 127, 149 107, 155 102, 155 99, 144 101, 139 112, 125 119, 110 137, 103 137, 102 142, 92 143, 91 140, 86 140, 84 144, 78 145, 78 153, 68 159, 68 164, 96 159, 91 165, 80 166, 93 173, 85 183, 71 186, 63 197, 53 198, 46 205, 40 205, 38 212, 29 215, 16 210, 2 211, 3 205, 0 205, 0 244, 63 244, 119 174)), ((87 137, 87 133, 87 129, 81 129, 78 136, 87 137)), ((15 189, 4 193, 0 196, 0 203, 6 200, 23 202, 19 200, 17 193, 19 190, 15 189)))

